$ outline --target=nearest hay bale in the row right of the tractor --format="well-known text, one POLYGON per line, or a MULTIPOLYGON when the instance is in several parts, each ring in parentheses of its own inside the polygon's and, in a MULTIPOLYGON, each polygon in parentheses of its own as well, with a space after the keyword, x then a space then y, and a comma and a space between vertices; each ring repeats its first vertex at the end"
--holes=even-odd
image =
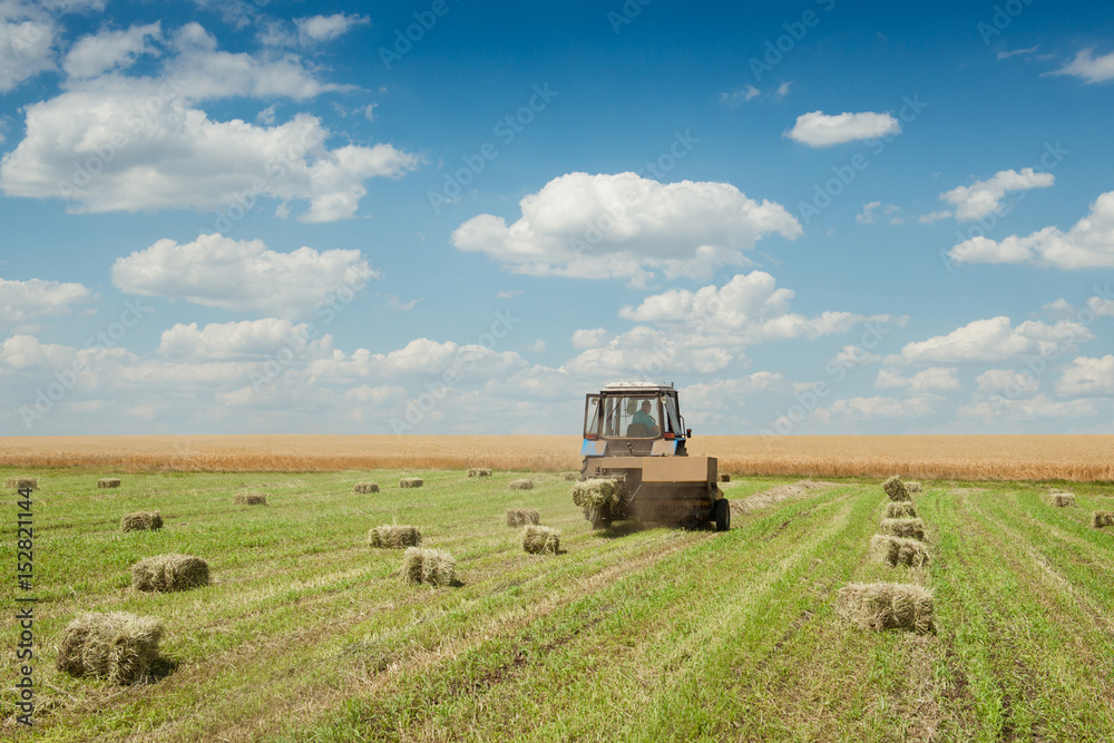
POLYGON ((932 630, 931 592, 909 584, 852 583, 840 588, 836 610, 863 629, 932 630))

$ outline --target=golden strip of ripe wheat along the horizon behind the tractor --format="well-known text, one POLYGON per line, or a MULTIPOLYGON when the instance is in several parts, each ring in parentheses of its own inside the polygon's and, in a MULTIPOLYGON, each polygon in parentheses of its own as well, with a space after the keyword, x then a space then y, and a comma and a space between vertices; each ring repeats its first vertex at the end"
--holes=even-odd
MULTIPOLYGON (((7 437, 0 467, 141 471, 579 469, 576 436, 7 437)), ((720 471, 807 477, 1114 480, 1114 436, 712 436, 720 471)))

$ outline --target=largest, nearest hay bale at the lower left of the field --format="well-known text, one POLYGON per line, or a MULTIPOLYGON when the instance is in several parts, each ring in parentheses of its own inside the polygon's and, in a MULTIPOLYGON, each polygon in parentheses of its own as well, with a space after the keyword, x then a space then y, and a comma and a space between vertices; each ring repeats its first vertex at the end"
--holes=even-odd
POLYGON ((158 659, 163 624, 134 614, 79 614, 62 633, 56 666, 71 676, 133 684, 158 659))

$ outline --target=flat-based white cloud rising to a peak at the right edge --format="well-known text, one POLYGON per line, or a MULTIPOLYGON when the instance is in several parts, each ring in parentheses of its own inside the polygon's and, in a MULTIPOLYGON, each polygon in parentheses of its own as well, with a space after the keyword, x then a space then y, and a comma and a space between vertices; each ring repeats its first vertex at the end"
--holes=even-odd
POLYGON ((948 251, 956 263, 1025 263, 1065 271, 1114 267, 1114 192, 1102 194, 1091 214, 1065 232, 1045 227, 1001 242, 974 237, 948 251))

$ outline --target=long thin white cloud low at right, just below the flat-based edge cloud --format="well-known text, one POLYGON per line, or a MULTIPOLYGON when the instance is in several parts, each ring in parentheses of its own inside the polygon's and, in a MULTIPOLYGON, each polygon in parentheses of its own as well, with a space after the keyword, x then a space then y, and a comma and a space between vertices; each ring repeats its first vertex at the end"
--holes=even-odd
POLYGON ((1061 321, 1048 325, 1026 321, 1014 327, 1009 317, 976 320, 927 341, 907 344, 901 358, 913 363, 995 363, 1028 355, 1053 358, 1094 338, 1086 325, 1061 321))

